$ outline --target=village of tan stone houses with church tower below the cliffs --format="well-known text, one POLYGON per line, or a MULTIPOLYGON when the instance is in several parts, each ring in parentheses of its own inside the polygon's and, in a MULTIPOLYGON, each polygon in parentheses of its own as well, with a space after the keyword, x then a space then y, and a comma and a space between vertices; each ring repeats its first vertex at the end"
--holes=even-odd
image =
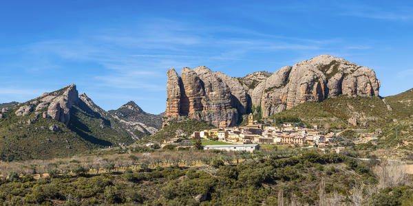
MULTIPOLYGON (((240 150, 244 150, 241 148, 242 146, 237 145, 244 145, 245 148, 247 144, 253 147, 256 144, 284 144, 324 148, 333 144, 335 133, 326 134, 317 125, 313 125, 313 128, 303 128, 294 126, 292 123, 283 123, 282 126, 263 127, 262 124, 256 124, 253 121, 253 115, 249 114, 246 126, 195 131, 191 137, 230 143, 237 147, 237 150, 238 147, 240 150)), ((225 146, 206 146, 204 149, 222 147, 225 146)))

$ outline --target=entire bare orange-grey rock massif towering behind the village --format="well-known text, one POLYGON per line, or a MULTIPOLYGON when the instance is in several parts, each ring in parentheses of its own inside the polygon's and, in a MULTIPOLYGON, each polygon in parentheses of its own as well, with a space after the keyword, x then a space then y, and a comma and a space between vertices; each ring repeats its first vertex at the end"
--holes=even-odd
POLYGON ((184 68, 180 76, 169 69, 167 77, 164 124, 189 116, 215 126, 234 126, 252 106, 269 117, 307 101, 321 102, 338 95, 379 96, 380 87, 372 69, 328 55, 244 78, 231 78, 207 67, 184 68))

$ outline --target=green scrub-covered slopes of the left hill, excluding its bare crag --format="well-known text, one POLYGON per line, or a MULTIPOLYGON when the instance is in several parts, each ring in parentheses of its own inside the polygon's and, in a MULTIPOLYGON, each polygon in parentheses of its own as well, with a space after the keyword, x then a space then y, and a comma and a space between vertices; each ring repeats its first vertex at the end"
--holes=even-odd
MULTIPOLYGON (((47 95, 59 97, 67 89, 47 95)), ((47 106, 38 111, 34 108, 42 104, 36 98, 3 112, 0 119, 0 160, 52 159, 67 157, 96 148, 131 144, 134 139, 118 122, 106 119, 78 99, 70 107, 70 121, 67 125, 42 115, 47 106), (21 106, 30 106, 26 115, 17 115, 21 106), (51 126, 58 130, 52 131, 51 126)))

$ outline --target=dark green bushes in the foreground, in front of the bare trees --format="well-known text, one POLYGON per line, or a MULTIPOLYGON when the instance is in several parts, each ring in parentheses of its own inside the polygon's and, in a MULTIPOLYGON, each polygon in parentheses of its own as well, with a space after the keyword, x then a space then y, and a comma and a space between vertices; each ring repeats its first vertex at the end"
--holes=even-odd
MULTIPOLYGON (((218 154, 219 155, 219 154, 218 154)), ((221 155, 222 157, 225 154, 221 155)), ((91 174, 9 174, 1 179, 0 203, 9 205, 401 205, 413 203, 413 188, 388 187, 355 159, 335 153, 304 152, 293 157, 268 155, 242 163, 215 156, 209 165, 127 167, 91 174), (382 187, 377 187, 382 185, 382 187), (372 192, 369 188, 379 188, 372 192), (361 200, 357 197, 362 196, 361 200)), ((383 176, 380 176, 383 178, 383 176)))

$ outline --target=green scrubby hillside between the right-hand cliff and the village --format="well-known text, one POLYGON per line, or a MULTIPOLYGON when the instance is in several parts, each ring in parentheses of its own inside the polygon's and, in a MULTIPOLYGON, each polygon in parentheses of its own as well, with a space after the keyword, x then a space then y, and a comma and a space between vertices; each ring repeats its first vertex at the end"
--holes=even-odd
POLYGON ((401 119, 395 111, 389 111, 381 98, 350 98, 340 95, 323 102, 304 102, 273 117, 299 117, 308 124, 319 124, 328 128, 377 128, 401 119))

